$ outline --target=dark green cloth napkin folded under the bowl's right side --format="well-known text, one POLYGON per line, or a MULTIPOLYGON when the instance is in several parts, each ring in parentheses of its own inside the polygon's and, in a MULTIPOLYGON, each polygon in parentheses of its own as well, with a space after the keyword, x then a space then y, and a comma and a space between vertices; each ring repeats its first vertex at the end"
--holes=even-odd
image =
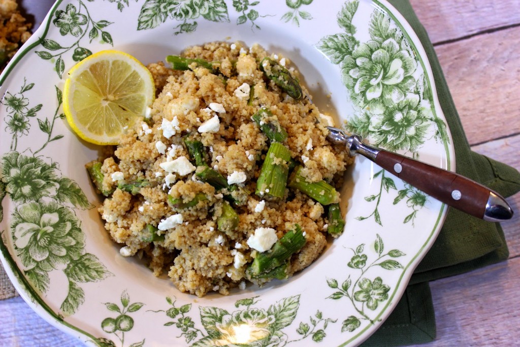
MULTIPOLYGON (((408 0, 388 0, 419 36, 432 66, 440 106, 453 137, 456 171, 504 197, 520 191, 520 173, 472 152, 448 90, 435 50, 408 0)), ((507 259, 508 246, 498 223, 450 209, 431 250, 419 264, 402 299, 384 324, 362 346, 400 346, 435 339, 435 314, 428 281, 458 275, 507 259)))

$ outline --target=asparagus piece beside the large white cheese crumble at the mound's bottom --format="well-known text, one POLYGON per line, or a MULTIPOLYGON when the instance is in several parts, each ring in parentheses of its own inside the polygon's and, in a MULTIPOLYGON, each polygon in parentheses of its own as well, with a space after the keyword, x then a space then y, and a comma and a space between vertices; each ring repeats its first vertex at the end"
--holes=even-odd
MULTIPOLYGON (((300 251, 305 245, 305 236, 303 236, 300 225, 295 224, 294 230, 290 230, 283 235, 270 251, 259 253, 248 268, 248 272, 252 278, 266 275, 274 271, 279 266, 284 265, 291 255, 300 251)), ((279 274, 279 270, 275 272, 279 274)))

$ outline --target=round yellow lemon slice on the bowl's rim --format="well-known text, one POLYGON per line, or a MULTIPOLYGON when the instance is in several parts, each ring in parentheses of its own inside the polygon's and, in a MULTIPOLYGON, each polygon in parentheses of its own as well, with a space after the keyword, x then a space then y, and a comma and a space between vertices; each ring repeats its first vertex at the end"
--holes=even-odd
POLYGON ((155 97, 148 69, 118 50, 93 54, 70 71, 63 112, 74 132, 97 145, 116 145, 127 127, 146 113, 155 97))

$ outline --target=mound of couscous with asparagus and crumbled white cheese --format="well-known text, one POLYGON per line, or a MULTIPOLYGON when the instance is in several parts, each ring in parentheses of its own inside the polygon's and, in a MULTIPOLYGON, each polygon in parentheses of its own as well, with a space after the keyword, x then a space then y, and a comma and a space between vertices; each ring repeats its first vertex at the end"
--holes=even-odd
POLYGON ((202 297, 309 266, 344 222, 346 151, 326 141, 290 61, 240 43, 193 46, 148 68, 157 98, 87 164, 123 256, 202 297))

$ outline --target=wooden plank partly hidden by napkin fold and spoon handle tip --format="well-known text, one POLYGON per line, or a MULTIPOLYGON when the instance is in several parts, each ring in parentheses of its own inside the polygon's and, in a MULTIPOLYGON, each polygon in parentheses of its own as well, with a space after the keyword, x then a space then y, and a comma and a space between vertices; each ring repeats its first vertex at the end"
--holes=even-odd
MULTIPOLYGON (((472 150, 497 161, 513 166, 520 171, 520 135, 503 138, 482 145, 473 146, 472 150)), ((507 199, 515 215, 510 221, 501 223, 508 241, 510 258, 520 255, 520 194, 507 199)))

